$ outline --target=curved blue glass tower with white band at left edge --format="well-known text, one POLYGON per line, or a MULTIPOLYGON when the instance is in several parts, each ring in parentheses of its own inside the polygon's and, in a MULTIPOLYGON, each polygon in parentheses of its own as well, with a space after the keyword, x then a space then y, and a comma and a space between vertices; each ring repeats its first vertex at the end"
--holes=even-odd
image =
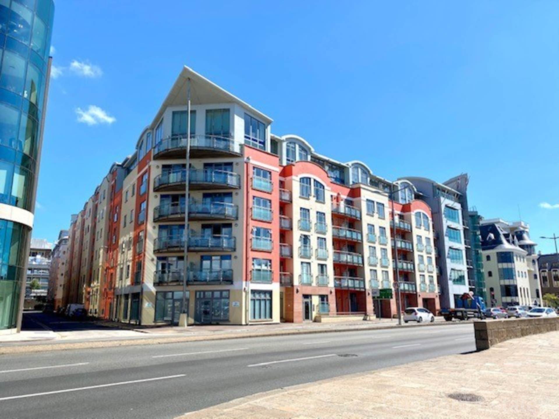
POLYGON ((53 17, 53 0, 0 0, 0 333, 20 316, 53 17))

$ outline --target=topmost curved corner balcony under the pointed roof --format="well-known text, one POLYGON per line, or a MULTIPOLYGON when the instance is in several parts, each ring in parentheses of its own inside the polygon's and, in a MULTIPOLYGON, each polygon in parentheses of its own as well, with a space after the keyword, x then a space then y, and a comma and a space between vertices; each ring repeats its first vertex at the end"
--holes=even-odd
MULTIPOLYGON (((153 159, 183 159, 186 157, 187 136, 172 136, 153 147, 153 159)), ((240 147, 233 139, 216 135, 191 135, 190 156, 206 157, 240 156, 240 147)))

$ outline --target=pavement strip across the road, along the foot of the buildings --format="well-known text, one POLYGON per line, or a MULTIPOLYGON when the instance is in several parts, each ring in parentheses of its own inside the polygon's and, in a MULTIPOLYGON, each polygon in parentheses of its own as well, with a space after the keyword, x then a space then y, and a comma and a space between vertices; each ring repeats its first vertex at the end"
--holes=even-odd
MULTIPOLYGON (((454 324, 457 323, 459 322, 454 322, 454 324)), ((418 325, 410 322, 402 326, 397 326, 397 320, 378 319, 339 323, 305 322, 250 326, 138 327, 109 321, 73 321, 49 313, 26 312, 23 315, 23 327, 20 334, 0 335, 0 355, 435 325, 449 325, 449 323, 445 322, 442 317, 437 317, 434 323, 418 325)))

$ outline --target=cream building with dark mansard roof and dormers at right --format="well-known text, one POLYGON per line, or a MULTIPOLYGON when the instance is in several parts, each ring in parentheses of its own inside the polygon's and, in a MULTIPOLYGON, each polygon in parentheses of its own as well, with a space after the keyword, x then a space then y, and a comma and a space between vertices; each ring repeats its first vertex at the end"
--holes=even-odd
POLYGON ((537 244, 523 221, 482 220, 481 248, 491 306, 542 304, 537 244))

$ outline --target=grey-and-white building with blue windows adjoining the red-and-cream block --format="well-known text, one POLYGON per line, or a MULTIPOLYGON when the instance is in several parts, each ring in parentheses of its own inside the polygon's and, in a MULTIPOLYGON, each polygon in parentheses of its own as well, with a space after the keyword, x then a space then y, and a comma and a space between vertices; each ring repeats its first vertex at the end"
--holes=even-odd
MULTIPOLYGON (((456 179, 448 182, 456 185, 456 179)), ((415 188, 416 198, 421 199, 432 210, 434 246, 439 275, 440 307, 454 308, 463 294, 475 289, 475 282, 468 278, 466 249, 470 249, 465 189, 459 192, 447 185, 426 178, 406 177, 415 188), (466 213, 466 216, 465 216, 466 213)), ((463 182, 463 181, 462 181, 463 182)))

